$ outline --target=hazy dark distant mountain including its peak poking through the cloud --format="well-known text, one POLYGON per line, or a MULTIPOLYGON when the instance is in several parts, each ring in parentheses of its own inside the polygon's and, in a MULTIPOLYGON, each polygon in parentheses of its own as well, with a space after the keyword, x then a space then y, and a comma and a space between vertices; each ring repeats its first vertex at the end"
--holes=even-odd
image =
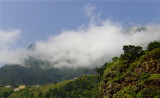
MULTIPOLYGON (((35 49, 31 44, 29 51, 35 49)), ((0 86, 5 85, 42 85, 63 80, 81 77, 86 74, 95 74, 93 68, 55 68, 49 61, 28 57, 24 60, 24 65, 6 64, 0 68, 0 86)))

